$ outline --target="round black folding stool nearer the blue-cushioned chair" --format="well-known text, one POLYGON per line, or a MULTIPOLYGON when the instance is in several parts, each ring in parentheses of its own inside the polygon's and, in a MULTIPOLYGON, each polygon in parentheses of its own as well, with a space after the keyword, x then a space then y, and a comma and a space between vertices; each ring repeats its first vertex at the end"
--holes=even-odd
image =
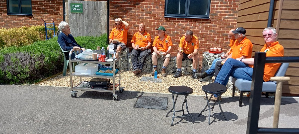
POLYGON ((223 113, 223 111, 222 111, 222 109, 221 109, 221 105, 220 105, 220 101, 219 101, 219 98, 221 97, 221 95, 222 95, 223 93, 226 92, 226 90, 227 90, 227 88, 226 88, 225 85, 218 84, 218 83, 212 83, 212 84, 209 84, 209 85, 204 85, 204 86, 202 86, 202 91, 204 91, 205 94, 206 94, 207 105, 206 105, 205 108, 199 113, 198 116, 200 116, 200 115, 202 114, 202 112, 209 110, 209 125, 211 124, 211 123, 210 123, 210 117, 211 117, 210 100, 211 100, 213 94, 217 94, 217 95, 218 95, 218 98, 216 99, 216 101, 215 101, 214 104, 213 104, 212 111, 213 111, 213 109, 214 109, 214 106, 215 106, 216 102, 218 101, 218 103, 219 103, 219 108, 220 108, 220 110, 221 110, 221 113, 216 113, 216 114, 213 114, 212 116, 216 116, 216 115, 220 115, 220 114, 222 114, 222 115, 224 116, 224 119, 226 120, 226 117, 225 117, 225 115, 224 115, 224 113, 223 113), (210 99, 208 99, 208 95, 207 95, 207 93, 208 93, 208 94, 212 94, 212 95, 210 96, 210 99), (209 109, 205 110, 207 107, 209 107, 209 109))

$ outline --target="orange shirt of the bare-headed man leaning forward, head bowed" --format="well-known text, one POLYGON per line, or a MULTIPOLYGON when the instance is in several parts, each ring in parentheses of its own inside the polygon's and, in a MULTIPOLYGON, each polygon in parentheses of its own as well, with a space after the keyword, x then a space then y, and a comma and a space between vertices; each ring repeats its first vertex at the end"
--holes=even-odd
POLYGON ((183 36, 180 40, 179 47, 183 48, 185 54, 191 54, 194 52, 194 49, 199 49, 199 41, 198 38, 193 35, 192 40, 188 43, 185 40, 185 36, 183 36))

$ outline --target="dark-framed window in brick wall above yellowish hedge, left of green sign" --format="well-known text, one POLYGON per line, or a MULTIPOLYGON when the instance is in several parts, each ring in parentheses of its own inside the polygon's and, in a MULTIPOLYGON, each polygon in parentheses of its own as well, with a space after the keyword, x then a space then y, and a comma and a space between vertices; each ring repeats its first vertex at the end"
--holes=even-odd
POLYGON ((31 0, 7 0, 7 14, 32 15, 31 0))

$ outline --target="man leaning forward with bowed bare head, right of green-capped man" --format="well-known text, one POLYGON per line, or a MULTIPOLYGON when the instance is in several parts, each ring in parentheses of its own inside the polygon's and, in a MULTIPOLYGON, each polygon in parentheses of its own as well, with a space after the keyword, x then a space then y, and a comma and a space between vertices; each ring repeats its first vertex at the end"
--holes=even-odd
POLYGON ((198 66, 198 54, 197 51, 199 49, 199 41, 198 38, 193 35, 193 31, 187 30, 185 35, 181 37, 179 44, 179 52, 176 56, 176 64, 178 65, 178 71, 173 77, 178 78, 182 76, 182 61, 185 59, 191 59, 193 65, 192 78, 199 79, 195 76, 197 72, 198 66))

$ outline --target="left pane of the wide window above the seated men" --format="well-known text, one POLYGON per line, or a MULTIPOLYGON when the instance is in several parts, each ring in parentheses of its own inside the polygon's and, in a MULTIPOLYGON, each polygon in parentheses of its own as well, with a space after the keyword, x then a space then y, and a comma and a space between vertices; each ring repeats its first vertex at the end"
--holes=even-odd
POLYGON ((168 0, 167 14, 185 14, 185 0, 168 0))

